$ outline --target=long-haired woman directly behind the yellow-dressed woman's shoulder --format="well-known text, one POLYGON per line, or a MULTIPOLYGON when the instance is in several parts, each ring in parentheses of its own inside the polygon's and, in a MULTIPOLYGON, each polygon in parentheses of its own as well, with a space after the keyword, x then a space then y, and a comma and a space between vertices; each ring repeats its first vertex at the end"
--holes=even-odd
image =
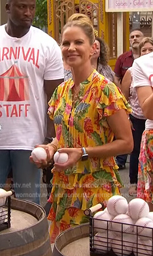
POLYGON ((104 75, 111 82, 114 81, 114 72, 108 65, 109 61, 109 47, 106 45, 105 41, 99 37, 96 37, 96 51, 92 55, 92 66, 101 75, 104 75))

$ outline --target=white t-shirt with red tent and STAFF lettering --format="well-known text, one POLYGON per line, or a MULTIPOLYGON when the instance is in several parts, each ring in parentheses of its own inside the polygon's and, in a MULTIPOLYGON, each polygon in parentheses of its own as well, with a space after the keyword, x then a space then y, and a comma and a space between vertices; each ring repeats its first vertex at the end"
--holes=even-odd
POLYGON ((0 26, 0 149, 32 150, 47 127, 44 79, 64 77, 60 47, 30 27, 22 38, 0 26))

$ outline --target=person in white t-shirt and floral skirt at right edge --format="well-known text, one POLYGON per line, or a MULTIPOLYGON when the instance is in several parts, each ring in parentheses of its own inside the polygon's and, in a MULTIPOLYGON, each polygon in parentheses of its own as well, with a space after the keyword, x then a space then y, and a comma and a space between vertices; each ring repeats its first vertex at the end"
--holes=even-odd
POLYGON ((140 145, 137 197, 143 198, 153 211, 153 53, 133 63, 134 87, 140 107, 147 119, 140 145))

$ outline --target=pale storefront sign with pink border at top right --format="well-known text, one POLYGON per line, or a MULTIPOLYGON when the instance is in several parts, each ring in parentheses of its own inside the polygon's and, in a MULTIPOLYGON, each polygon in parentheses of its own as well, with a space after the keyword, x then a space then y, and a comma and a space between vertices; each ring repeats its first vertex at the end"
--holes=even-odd
POLYGON ((106 12, 153 11, 153 0, 105 0, 106 12))

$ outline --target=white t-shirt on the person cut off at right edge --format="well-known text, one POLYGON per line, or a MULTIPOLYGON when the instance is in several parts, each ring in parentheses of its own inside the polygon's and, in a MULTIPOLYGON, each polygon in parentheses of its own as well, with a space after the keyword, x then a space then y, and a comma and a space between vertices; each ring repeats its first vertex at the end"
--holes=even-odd
MULTIPOLYGON (((133 63, 134 87, 153 87, 153 53, 135 59, 133 63)), ((147 119, 145 130, 153 129, 153 120, 147 119)))

